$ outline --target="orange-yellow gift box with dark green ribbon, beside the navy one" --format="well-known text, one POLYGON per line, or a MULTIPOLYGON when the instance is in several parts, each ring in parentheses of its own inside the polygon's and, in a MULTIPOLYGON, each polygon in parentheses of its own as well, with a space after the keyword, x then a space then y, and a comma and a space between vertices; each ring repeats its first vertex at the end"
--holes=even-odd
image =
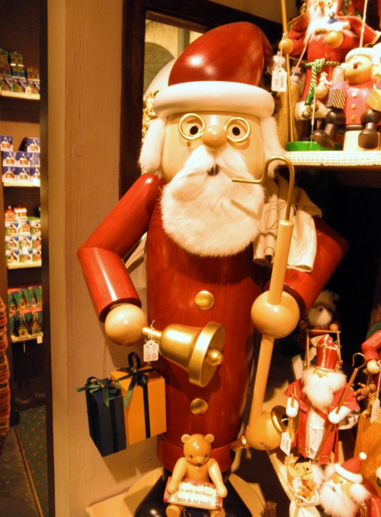
POLYGON ((123 399, 129 388, 130 392, 132 391, 128 406, 124 406, 126 442, 131 445, 164 433, 166 431, 164 378, 147 364, 138 368, 135 373, 117 370, 111 372, 110 377, 114 381, 118 379, 123 399), (146 383, 139 382, 139 378, 141 379, 143 375, 147 376, 146 383))

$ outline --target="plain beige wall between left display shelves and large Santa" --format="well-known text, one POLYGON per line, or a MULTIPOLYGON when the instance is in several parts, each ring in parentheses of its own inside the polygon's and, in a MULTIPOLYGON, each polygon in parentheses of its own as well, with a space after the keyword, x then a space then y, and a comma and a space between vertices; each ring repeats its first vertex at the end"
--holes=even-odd
MULTIPOLYGON (((261 16, 264 2, 220 2, 261 16), (254 9, 255 8, 255 9, 254 9), (252 12, 253 12, 252 11, 252 12)), ((266 13, 269 11, 266 3, 266 13)), ((274 19, 279 14, 273 2, 274 19)), ((155 439, 102 458, 84 393, 102 376, 104 336, 76 250, 118 198, 122 1, 49 0, 49 228, 56 516, 121 493, 157 465, 155 439), (112 6, 112 8, 110 8, 112 6)), ((106 372, 126 362, 107 345, 106 372)))

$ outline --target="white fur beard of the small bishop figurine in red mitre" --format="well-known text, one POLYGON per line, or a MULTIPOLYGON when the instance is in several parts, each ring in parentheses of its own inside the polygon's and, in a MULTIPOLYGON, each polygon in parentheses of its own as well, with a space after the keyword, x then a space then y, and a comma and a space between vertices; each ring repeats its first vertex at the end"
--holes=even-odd
POLYGON ((314 367, 304 370, 301 374, 303 382, 303 392, 317 409, 325 412, 326 408, 332 403, 334 393, 341 389, 345 384, 343 372, 327 372, 326 377, 319 377, 314 373, 314 367))

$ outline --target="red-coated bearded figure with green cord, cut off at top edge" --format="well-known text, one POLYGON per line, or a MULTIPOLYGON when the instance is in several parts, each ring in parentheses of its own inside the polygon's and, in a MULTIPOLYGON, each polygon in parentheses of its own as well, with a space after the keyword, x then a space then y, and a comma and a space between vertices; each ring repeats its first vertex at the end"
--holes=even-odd
MULTIPOLYGON (((344 62, 348 51, 359 46, 362 20, 354 14, 352 2, 308 0, 305 14, 296 19, 287 37, 281 41, 282 52, 301 56, 310 65, 315 60, 324 59, 326 64, 318 69, 316 83, 319 83, 321 73, 326 73, 327 80, 331 81, 335 66, 344 62)), ((379 36, 377 31, 365 25, 363 45, 376 43, 379 36)), ((309 66, 301 94, 303 104, 310 94, 311 78, 312 66, 309 66)), ((302 111, 299 111, 301 115, 302 111)))

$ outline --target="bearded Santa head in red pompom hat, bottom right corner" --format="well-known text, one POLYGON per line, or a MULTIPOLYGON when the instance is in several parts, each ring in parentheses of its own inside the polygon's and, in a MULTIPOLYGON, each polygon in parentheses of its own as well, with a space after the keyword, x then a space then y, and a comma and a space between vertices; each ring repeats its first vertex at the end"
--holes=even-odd
POLYGON ((360 505, 370 498, 370 492, 364 486, 360 474, 365 453, 343 463, 327 465, 325 479, 320 489, 320 505, 324 513, 331 517, 355 517, 360 505))

